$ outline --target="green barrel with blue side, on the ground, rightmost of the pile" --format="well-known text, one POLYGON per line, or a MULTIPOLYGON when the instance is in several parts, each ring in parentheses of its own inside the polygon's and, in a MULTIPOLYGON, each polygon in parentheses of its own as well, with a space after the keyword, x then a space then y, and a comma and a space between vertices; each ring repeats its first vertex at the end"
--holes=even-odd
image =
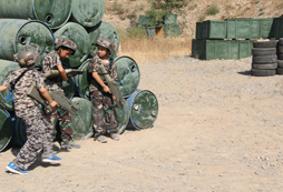
POLYGON ((130 115, 127 128, 150 128, 158 114, 158 101, 155 94, 148 90, 137 90, 127 99, 130 115))

